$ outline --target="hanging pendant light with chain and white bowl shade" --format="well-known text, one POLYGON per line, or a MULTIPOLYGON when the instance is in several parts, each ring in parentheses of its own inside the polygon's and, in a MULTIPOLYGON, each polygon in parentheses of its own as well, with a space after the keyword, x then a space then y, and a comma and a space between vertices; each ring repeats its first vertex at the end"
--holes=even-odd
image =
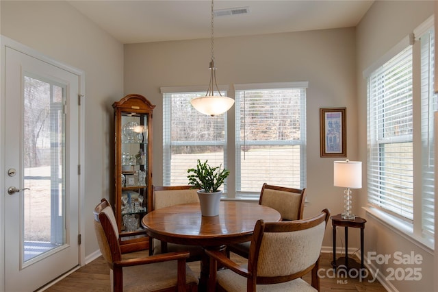
POLYGON ((192 106, 203 114, 214 117, 218 114, 227 112, 233 106, 234 99, 231 97, 222 96, 216 82, 216 66, 214 64, 214 10, 213 0, 211 0, 211 61, 210 61, 210 83, 207 89, 207 94, 204 97, 195 97, 190 101, 192 106), (218 94, 214 95, 214 90, 218 94))

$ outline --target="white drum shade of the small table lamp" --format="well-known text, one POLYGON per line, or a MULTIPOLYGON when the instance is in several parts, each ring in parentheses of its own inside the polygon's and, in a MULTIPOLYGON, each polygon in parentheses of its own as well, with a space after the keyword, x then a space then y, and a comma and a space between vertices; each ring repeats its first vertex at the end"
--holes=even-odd
POLYGON ((361 188, 362 162, 335 161, 333 165, 333 185, 344 188, 361 188))

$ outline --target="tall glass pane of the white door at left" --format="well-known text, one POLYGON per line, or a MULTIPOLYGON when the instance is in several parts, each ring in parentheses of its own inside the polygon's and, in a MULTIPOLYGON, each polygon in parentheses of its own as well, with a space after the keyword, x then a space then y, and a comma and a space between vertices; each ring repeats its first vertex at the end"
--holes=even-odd
POLYGON ((23 258, 30 260, 66 243, 65 114, 66 88, 24 78, 23 258))

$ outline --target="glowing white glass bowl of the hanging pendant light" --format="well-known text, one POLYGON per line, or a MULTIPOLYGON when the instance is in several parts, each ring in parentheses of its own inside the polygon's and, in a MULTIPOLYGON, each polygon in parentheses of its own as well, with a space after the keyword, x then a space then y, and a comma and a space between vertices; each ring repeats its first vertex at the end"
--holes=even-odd
POLYGON ((233 106, 234 99, 231 97, 221 97, 221 96, 205 96, 205 97, 195 97, 190 101, 190 104, 203 114, 209 116, 217 116, 218 114, 223 114, 227 112, 233 106))

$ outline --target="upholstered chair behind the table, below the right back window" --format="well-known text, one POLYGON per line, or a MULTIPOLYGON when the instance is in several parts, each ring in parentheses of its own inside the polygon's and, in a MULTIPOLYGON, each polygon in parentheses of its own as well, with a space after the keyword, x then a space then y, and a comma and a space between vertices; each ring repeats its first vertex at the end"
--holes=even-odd
MULTIPOLYGON (((306 199, 306 188, 287 188, 266 184, 261 187, 259 204, 280 212, 283 221, 302 219, 306 199)), ((248 258, 250 242, 236 243, 227 247, 227 254, 233 252, 248 258)))

